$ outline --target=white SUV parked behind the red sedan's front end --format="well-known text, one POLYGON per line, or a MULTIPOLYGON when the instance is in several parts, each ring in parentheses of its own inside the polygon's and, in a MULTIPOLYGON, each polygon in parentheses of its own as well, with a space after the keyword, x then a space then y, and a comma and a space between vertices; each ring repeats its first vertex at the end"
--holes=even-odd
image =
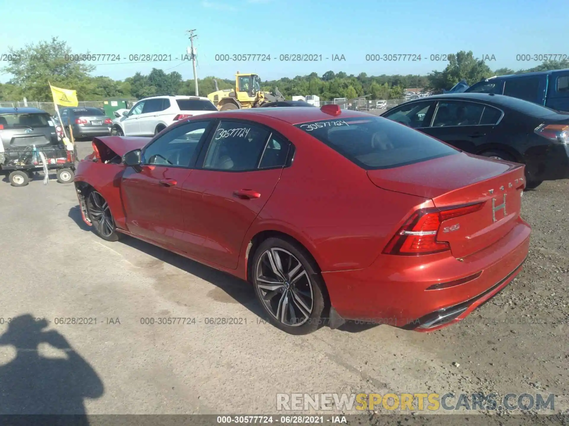
POLYGON ((130 111, 113 120, 111 134, 154 136, 170 124, 194 115, 217 112, 208 98, 197 96, 153 96, 141 99, 130 111))

